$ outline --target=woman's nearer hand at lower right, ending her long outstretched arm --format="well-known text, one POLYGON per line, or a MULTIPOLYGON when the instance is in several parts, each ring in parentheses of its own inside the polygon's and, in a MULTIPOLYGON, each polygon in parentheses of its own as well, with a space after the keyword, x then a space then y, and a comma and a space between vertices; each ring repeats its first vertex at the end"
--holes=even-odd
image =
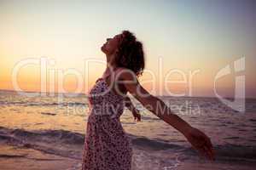
POLYGON ((192 144, 192 147, 201 154, 201 156, 206 156, 212 161, 215 160, 215 153, 212 149, 211 139, 209 139, 205 133, 195 127, 191 127, 188 133, 185 134, 185 137, 188 139, 189 143, 192 144))

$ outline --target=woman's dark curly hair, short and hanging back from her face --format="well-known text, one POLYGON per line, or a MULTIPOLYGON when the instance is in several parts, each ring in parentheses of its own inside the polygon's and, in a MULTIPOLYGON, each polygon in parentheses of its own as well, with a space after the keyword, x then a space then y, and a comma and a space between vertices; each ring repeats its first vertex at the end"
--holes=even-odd
POLYGON ((143 43, 131 31, 122 31, 121 41, 114 58, 114 63, 134 71, 137 77, 143 75, 145 67, 143 43))

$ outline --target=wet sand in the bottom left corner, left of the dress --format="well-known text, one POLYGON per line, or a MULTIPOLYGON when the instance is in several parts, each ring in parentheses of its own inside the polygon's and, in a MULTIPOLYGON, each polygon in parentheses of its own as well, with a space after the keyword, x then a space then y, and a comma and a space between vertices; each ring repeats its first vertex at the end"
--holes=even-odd
POLYGON ((1 170, 67 170, 79 163, 79 160, 45 154, 38 150, 2 144, 0 146, 1 170))

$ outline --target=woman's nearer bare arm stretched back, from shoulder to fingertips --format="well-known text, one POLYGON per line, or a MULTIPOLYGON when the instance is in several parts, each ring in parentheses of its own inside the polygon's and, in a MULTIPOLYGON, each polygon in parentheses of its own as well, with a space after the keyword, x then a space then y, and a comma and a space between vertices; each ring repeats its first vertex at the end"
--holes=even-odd
POLYGON ((192 147, 198 150, 201 155, 207 156, 210 160, 215 159, 211 140, 205 133, 191 127, 188 122, 172 113, 171 109, 161 99, 149 94, 137 81, 137 77, 132 71, 122 68, 117 75, 119 82, 123 83, 126 90, 140 101, 148 111, 183 133, 192 147))

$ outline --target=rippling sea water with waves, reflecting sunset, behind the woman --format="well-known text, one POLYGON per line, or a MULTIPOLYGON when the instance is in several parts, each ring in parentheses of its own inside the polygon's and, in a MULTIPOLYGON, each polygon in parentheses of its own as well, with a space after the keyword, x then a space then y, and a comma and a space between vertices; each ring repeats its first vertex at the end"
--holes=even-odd
MULTIPOLYGON (((237 166, 241 169, 256 162, 256 99, 246 99, 246 111, 241 113, 216 98, 159 98, 211 138, 216 161, 202 167, 209 161, 191 148, 182 133, 132 99, 141 112, 142 121, 135 122, 127 109, 120 117, 133 144, 132 169, 178 169, 183 162, 196 163, 196 169, 200 169, 200 165, 201 169, 237 169, 237 166)), ((75 162, 67 169, 80 169, 88 109, 84 94, 62 95, 60 99, 58 94, 31 97, 0 91, 0 144, 38 150, 51 155, 52 159, 67 157, 75 162)), ((15 150, 9 154, 0 150, 0 159, 18 160, 20 156, 33 159, 14 153, 15 150)))

